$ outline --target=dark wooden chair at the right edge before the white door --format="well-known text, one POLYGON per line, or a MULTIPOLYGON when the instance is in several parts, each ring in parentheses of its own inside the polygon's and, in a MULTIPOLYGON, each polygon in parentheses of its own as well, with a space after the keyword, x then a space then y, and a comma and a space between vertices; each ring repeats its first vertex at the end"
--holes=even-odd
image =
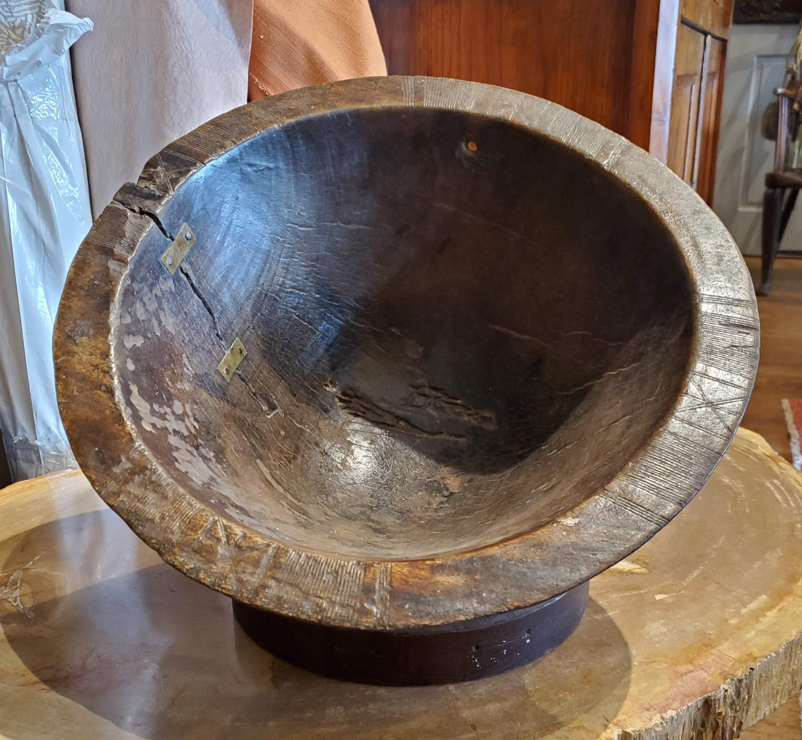
POLYGON ((758 295, 768 295, 772 284, 774 261, 778 254, 798 255, 799 252, 780 251, 785 227, 791 218, 796 197, 802 188, 802 169, 788 167, 788 141, 793 140, 795 104, 798 89, 778 87, 777 136, 774 148, 774 169, 766 173, 766 192, 763 197, 763 244, 760 259, 758 295))

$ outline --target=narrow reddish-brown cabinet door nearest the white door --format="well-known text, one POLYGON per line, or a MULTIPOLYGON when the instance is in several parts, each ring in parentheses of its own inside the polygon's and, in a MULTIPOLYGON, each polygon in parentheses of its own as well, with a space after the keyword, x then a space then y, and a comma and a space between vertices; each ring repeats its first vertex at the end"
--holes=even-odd
POLYGON ((724 42, 707 37, 702 71, 702 112, 699 126, 699 166, 695 177, 696 192, 713 205, 715 183, 715 156, 719 148, 719 121, 721 120, 721 91, 724 67, 724 42))

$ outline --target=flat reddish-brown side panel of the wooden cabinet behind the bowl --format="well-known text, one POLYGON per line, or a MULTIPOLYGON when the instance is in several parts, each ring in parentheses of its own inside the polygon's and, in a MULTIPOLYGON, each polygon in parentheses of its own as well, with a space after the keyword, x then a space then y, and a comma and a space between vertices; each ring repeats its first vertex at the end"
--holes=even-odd
POLYGON ((629 130, 634 0, 372 0, 391 75, 456 77, 629 130))

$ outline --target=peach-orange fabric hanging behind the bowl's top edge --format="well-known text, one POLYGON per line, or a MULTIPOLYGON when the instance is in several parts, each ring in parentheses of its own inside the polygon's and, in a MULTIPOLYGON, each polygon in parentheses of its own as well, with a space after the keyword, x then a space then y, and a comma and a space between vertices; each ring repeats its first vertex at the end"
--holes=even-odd
POLYGON ((387 65, 368 0, 254 0, 251 100, 374 75, 387 65))

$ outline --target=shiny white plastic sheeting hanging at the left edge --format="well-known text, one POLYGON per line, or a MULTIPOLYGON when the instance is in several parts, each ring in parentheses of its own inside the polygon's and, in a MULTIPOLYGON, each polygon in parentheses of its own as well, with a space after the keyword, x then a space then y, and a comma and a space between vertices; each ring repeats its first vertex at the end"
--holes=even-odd
POLYGON ((49 0, 0 0, 0 428, 15 480, 75 466, 52 336, 91 226, 68 54, 91 29, 49 0))

